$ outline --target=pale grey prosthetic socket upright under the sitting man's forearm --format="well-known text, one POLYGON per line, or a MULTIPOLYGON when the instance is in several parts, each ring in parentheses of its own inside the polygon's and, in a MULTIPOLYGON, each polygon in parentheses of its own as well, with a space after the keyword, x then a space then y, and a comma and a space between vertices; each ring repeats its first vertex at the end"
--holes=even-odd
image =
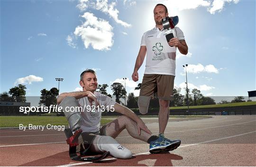
POLYGON ((65 97, 59 106, 61 106, 63 109, 64 115, 68 120, 71 131, 74 132, 77 129, 80 129, 81 123, 82 123, 81 113, 79 111, 71 112, 71 111, 65 110, 66 107, 69 107, 70 109, 71 107, 75 108, 79 106, 75 97, 65 97))

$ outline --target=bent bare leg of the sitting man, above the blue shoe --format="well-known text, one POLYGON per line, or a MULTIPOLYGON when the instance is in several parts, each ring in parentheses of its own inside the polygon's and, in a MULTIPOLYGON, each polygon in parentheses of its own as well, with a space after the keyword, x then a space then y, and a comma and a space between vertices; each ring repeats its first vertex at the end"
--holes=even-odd
POLYGON ((106 135, 116 138, 124 129, 127 129, 128 133, 132 137, 144 142, 147 142, 147 140, 152 136, 143 130, 141 130, 140 135, 138 135, 137 123, 127 116, 121 116, 107 124, 106 135))

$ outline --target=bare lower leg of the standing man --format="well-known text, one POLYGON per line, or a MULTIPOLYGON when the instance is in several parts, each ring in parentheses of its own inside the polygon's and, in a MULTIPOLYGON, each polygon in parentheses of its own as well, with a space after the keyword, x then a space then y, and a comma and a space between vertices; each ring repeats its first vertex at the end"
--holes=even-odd
POLYGON ((159 100, 159 114, 158 114, 158 123, 159 123, 159 134, 164 134, 166 125, 169 119, 169 100, 159 100))

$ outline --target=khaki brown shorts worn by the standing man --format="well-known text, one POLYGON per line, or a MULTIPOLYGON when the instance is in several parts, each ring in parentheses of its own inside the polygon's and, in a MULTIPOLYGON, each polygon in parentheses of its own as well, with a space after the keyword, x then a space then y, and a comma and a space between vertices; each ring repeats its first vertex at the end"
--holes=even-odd
POLYGON ((139 95, 173 100, 174 78, 174 75, 144 74, 139 95))

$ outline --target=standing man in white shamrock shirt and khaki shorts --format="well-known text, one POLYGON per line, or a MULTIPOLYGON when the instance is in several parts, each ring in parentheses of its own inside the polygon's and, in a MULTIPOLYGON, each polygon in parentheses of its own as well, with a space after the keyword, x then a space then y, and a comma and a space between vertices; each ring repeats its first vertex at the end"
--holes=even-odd
MULTIPOLYGON (((168 140, 165 138, 164 132, 169 119, 169 100, 173 100, 176 48, 184 55, 188 53, 188 46, 180 28, 174 27, 176 37, 174 36, 169 42, 166 41, 162 19, 167 16, 166 6, 157 4, 154 8, 155 27, 142 36, 140 50, 132 74, 133 81, 138 81, 137 71, 147 55, 138 106, 140 113, 146 114, 150 99, 154 97, 159 99, 160 141, 168 140)), ((171 143, 181 142, 180 140, 168 141, 171 143)))

